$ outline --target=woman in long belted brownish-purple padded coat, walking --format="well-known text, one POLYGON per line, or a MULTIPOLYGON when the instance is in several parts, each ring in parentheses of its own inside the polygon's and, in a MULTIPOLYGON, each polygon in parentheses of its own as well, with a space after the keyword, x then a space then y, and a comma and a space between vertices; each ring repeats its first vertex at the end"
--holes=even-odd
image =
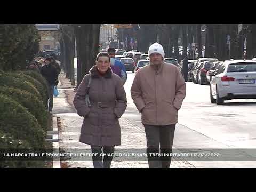
POLYGON ((108 53, 98 54, 96 65, 84 76, 73 103, 77 114, 84 117, 79 141, 90 145, 92 153, 99 156, 92 157, 94 168, 110 168, 113 157, 105 156, 102 161, 100 154, 102 149, 105 154, 113 154, 115 146, 121 145, 118 119, 127 107, 127 99, 121 77, 110 68, 108 53))

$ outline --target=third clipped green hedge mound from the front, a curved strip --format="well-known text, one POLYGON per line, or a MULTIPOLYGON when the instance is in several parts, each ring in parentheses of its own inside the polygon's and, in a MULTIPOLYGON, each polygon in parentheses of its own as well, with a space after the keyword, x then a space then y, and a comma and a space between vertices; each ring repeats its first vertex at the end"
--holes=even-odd
POLYGON ((48 112, 35 95, 13 87, 0 86, 0 93, 26 107, 35 116, 38 123, 47 132, 48 112))

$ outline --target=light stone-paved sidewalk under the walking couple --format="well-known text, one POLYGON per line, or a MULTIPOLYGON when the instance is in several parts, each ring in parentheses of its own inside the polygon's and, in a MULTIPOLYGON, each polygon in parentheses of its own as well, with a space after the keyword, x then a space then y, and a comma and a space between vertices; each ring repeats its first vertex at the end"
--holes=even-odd
MULTIPOLYGON (((72 149, 90 149, 89 145, 85 145, 78 141, 83 117, 79 117, 76 114, 76 110, 74 109, 74 107, 68 103, 65 91, 70 90, 69 87, 66 86, 70 82, 68 79, 63 78, 63 75, 64 74, 61 73, 60 84, 58 86, 60 95, 59 97, 54 98, 53 107, 53 113, 57 114, 58 119, 61 122, 61 128, 59 130, 60 148, 63 149, 65 152, 70 152, 72 149)), ((69 93, 72 94, 72 91, 69 91, 69 93)), ((73 94, 75 94, 75 92, 73 92, 73 94)), ((122 133, 122 146, 117 146, 116 149, 146 149, 146 135, 145 131, 143 130, 143 125, 138 122, 133 123, 133 120, 129 117, 129 113, 125 113, 119 120, 122 133)), ((173 160, 174 161, 172 161, 171 163, 172 168, 195 167, 181 158, 173 158, 173 160)), ((71 158, 62 161, 62 163, 64 162, 67 163, 69 167, 93 167, 92 161, 72 161, 71 158)), ((116 161, 114 157, 111 167, 147 168, 148 163, 147 161, 116 161)))

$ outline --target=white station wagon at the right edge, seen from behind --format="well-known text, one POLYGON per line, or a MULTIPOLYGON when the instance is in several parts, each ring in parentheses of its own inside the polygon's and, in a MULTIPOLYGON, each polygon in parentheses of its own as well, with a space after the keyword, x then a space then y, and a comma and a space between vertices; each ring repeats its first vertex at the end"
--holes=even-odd
POLYGON ((256 99, 256 61, 225 61, 210 82, 211 103, 256 99))

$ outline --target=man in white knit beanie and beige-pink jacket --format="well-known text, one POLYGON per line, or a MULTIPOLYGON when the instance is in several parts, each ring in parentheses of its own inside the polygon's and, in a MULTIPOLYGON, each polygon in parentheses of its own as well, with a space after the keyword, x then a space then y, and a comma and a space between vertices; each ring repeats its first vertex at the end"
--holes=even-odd
POLYGON ((136 73, 131 88, 132 99, 141 113, 147 138, 150 168, 169 168, 178 110, 186 96, 186 83, 178 67, 164 63, 164 49, 159 43, 149 47, 150 65, 136 73))

